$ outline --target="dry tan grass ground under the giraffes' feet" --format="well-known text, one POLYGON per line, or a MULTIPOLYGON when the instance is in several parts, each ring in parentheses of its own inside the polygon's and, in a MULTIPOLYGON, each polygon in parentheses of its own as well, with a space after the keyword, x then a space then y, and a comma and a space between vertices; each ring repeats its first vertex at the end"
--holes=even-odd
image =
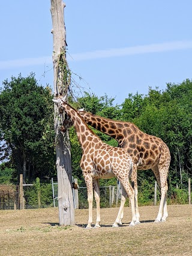
MULTIPOLYGON (((58 226, 58 208, 0 211, 0 255, 192 255, 192 205, 168 205, 167 222, 154 223, 158 207, 140 207, 138 226, 112 228, 118 208, 101 209, 101 228, 86 230, 88 210, 76 226, 58 226)), ((95 217, 95 210, 94 210, 95 217)))

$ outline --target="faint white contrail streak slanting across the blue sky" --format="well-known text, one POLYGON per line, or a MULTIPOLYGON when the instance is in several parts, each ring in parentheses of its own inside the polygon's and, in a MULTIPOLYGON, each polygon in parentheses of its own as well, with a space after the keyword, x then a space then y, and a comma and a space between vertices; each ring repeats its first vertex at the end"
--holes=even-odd
MULTIPOLYGON (((68 61, 94 60, 96 58, 111 58, 136 54, 148 54, 152 52, 166 52, 181 49, 192 49, 192 41, 176 41, 168 43, 154 43, 151 45, 140 45, 126 48, 112 48, 100 51, 82 52, 68 55, 68 61)), ((22 58, 18 60, 0 61, 0 69, 11 69, 15 67, 36 66, 52 63, 51 56, 37 58, 22 58)))

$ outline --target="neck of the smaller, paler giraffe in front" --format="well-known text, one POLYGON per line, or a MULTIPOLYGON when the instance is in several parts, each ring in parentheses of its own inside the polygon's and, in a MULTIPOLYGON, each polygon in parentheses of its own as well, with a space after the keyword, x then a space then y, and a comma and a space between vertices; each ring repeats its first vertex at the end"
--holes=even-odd
POLYGON ((85 120, 80 117, 80 115, 77 113, 76 110, 74 110, 73 107, 63 101, 62 107, 73 122, 82 149, 85 149, 86 145, 88 145, 88 143, 91 142, 93 139, 98 140, 98 142, 100 141, 99 137, 94 134, 91 129, 89 129, 85 120))

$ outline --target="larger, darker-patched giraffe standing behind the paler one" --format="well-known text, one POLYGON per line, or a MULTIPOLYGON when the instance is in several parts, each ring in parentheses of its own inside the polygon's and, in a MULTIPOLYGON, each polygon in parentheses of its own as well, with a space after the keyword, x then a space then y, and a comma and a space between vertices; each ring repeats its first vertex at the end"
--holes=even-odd
MULTIPOLYGON (((168 216, 166 202, 167 176, 170 164, 170 152, 166 143, 158 137, 143 133, 134 123, 107 119, 83 110, 79 110, 78 113, 86 123, 116 139, 119 147, 124 148, 131 156, 134 164, 131 180, 135 190, 136 224, 140 223, 137 201, 137 170, 152 169, 154 172, 158 185, 161 187, 160 207, 155 222, 166 221, 168 216)), ((121 204, 124 205, 124 201, 123 194, 121 204)), ((122 217, 123 211, 121 219, 122 217)))

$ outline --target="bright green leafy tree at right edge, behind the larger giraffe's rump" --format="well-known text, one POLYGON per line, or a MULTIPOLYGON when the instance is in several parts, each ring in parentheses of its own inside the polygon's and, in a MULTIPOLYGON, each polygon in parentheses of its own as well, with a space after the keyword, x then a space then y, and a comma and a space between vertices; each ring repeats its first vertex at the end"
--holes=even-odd
POLYGON ((170 182, 186 182, 192 174, 192 83, 167 84, 164 92, 149 89, 140 116, 133 122, 145 133, 160 137, 169 146, 170 182))

